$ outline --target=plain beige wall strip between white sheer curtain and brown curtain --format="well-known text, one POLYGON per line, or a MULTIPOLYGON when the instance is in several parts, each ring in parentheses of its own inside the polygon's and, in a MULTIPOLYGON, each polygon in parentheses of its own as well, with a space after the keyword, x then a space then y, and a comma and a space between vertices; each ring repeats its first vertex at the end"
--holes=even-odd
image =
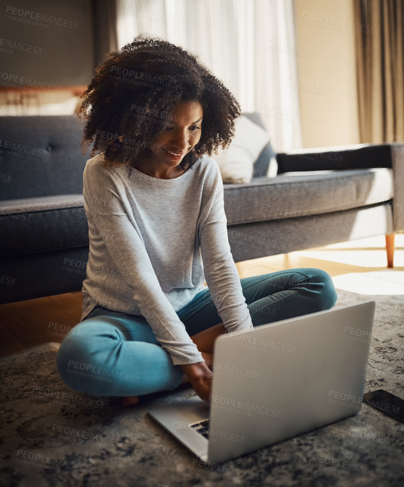
POLYGON ((353 1, 294 2, 303 147, 360 143, 353 1))

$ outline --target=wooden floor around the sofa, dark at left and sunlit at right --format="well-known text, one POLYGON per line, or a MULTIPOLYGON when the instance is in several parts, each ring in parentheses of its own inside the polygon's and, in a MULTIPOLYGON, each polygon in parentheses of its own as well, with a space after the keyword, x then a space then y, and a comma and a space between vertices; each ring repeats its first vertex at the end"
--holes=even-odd
MULTIPOLYGON (((396 235, 394 268, 386 265, 383 235, 236 263, 240 278, 315 267, 327 271, 340 289, 404 294, 404 234, 396 235), (381 279, 384 274, 389 279, 381 279)), ((81 305, 81 291, 0 305, 0 356, 45 342, 60 343, 69 327, 79 322, 81 305)))

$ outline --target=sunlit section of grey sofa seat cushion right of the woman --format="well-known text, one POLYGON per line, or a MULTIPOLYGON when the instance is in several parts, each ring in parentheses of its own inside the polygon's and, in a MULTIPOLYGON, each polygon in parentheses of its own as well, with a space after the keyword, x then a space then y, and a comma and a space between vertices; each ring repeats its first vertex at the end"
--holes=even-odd
POLYGON ((285 172, 223 186, 228 225, 373 205, 394 193, 391 168, 285 172))

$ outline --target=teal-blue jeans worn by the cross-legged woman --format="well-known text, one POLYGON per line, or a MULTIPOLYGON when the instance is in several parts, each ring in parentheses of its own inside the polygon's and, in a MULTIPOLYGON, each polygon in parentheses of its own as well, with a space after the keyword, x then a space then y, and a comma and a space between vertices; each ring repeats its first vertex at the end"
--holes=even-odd
MULTIPOLYGON (((331 277, 320 269, 289 269, 240 282, 254 326, 326 310, 337 300, 331 277)), ((190 336, 222 322, 208 288, 177 315, 190 336)), ((144 317, 99 305, 63 339, 57 365, 68 386, 98 396, 172 390, 183 377, 144 317)))

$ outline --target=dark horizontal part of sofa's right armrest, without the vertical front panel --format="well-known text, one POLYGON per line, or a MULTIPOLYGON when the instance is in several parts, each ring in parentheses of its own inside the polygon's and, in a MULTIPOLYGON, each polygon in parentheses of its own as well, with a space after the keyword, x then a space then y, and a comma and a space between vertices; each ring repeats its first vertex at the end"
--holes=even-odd
POLYGON ((391 147, 397 144, 358 144, 318 147, 277 153, 278 174, 295 171, 391 168, 391 147))

